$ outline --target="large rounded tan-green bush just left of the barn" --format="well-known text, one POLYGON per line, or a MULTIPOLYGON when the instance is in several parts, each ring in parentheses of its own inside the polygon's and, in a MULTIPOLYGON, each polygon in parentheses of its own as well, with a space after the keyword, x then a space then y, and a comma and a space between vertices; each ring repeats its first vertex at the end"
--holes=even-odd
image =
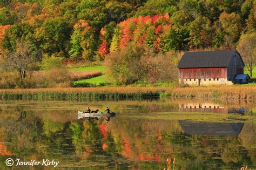
POLYGON ((176 54, 157 53, 147 46, 132 44, 106 56, 106 73, 118 84, 133 84, 145 81, 177 81, 176 54))

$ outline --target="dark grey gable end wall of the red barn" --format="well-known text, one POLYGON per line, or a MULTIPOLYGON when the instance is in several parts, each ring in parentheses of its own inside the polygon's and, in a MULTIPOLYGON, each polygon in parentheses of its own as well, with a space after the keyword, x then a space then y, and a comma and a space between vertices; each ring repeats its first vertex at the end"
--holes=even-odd
POLYGON ((244 74, 244 65, 238 52, 234 52, 227 67, 227 79, 233 80, 237 74, 244 74))

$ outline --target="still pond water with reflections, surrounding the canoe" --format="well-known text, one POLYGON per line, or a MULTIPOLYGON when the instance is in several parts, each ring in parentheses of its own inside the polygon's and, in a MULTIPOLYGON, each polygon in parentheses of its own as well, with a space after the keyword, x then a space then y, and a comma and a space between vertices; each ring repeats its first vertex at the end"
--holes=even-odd
POLYGON ((0 168, 8 158, 55 160, 58 169, 256 168, 255 108, 253 101, 0 101, 0 168), (79 119, 87 106, 109 106, 116 117, 79 119))

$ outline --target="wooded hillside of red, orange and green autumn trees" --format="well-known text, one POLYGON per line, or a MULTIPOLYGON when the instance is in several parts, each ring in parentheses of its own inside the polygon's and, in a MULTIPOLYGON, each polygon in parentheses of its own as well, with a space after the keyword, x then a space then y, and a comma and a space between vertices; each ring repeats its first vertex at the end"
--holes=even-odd
POLYGON ((1 51, 16 39, 36 59, 54 55, 104 59, 129 42, 157 51, 234 49, 255 31, 255 7, 246 1, 1 1, 1 51))

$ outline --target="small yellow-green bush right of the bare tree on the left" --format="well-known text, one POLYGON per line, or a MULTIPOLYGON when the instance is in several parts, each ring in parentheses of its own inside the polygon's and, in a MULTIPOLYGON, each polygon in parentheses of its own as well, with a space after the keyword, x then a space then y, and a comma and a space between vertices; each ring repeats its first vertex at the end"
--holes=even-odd
POLYGON ((55 67, 62 67, 62 60, 64 57, 55 57, 52 55, 51 57, 45 55, 42 59, 42 63, 40 65, 41 70, 51 70, 55 67))

